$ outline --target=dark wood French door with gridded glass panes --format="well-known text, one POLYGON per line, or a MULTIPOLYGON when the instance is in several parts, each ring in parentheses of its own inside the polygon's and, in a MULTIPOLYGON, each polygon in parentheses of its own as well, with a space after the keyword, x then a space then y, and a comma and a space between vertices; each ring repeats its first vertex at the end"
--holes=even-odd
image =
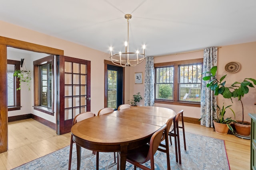
POLYGON ((70 132, 74 117, 90 111, 90 61, 58 56, 58 135, 70 132))

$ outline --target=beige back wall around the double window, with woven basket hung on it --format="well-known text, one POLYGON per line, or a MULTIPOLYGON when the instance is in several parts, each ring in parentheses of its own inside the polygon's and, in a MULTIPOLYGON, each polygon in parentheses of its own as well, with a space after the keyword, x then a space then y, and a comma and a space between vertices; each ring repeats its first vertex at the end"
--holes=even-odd
MULTIPOLYGON (((188 59, 198 59, 203 58, 203 51, 197 51, 192 53, 183 53, 178 55, 166 55, 154 57, 154 63, 164 63, 168 61, 182 61, 188 59)), ((226 80, 227 84, 231 85, 233 82, 238 81, 241 82, 244 78, 254 78, 256 79, 256 42, 251 43, 243 43, 237 45, 228 45, 218 48, 218 77, 227 74, 226 80), (225 71, 225 65, 231 61, 236 61, 240 63, 241 69, 236 73, 228 73, 225 71)), ((144 64, 145 65, 145 64, 144 64)), ((144 66, 134 67, 131 70, 131 75, 134 72, 143 72, 144 75, 144 66)), ((134 84, 134 80, 131 79, 131 95, 136 92, 141 92, 142 96, 144 96, 144 86, 134 84)), ((245 121, 250 121, 250 117, 248 113, 256 113, 256 88, 250 88, 249 94, 245 95, 242 98, 244 104, 244 119, 245 121)), ((232 109, 234 109, 236 113, 236 120, 242 119, 242 107, 239 101, 233 100, 233 104, 230 100, 224 99, 222 96, 217 97, 218 105, 222 106, 223 102, 225 106, 232 105, 232 109)), ((144 105, 144 102, 143 104, 144 105)), ((178 105, 168 105, 168 104, 155 104, 155 106, 167 107, 174 109, 174 111, 180 111, 184 109, 184 116, 200 118, 200 107, 188 107, 188 106, 178 106, 178 105)), ((228 110, 227 116, 232 116, 232 113, 228 110)))

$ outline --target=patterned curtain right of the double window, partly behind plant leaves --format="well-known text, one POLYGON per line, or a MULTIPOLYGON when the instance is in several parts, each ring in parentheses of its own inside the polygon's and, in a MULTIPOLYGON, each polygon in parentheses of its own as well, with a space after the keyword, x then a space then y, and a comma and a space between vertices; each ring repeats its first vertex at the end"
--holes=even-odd
MULTIPOLYGON (((204 49, 204 65, 203 72, 210 71, 210 68, 217 65, 217 47, 210 47, 204 49)), ((205 75, 203 75, 205 76, 205 75)), ((216 108, 216 96, 214 96, 214 92, 206 87, 206 84, 210 82, 202 81, 202 90, 201 90, 201 117, 206 115, 203 119, 201 119, 201 125, 206 127, 213 127, 213 118, 216 117, 216 113, 212 109, 212 106, 216 108)))

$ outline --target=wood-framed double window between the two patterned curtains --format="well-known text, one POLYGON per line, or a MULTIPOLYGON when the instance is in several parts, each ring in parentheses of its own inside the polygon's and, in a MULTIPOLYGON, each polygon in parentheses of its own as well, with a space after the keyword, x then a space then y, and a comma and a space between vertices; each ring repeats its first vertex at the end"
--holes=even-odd
POLYGON ((200 107, 203 59, 156 63, 155 103, 200 107))

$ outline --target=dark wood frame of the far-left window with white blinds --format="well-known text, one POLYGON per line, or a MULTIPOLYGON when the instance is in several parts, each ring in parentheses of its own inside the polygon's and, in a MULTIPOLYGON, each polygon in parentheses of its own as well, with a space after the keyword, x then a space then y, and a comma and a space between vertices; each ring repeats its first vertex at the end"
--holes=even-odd
MULTIPOLYGON (((7 60, 7 64, 13 64, 14 65, 14 70, 20 70, 20 61, 16 61, 16 60, 7 60)), ((16 77, 15 78, 16 80, 16 88, 15 88, 15 92, 16 92, 16 98, 15 98, 15 106, 10 106, 8 107, 8 111, 13 111, 13 110, 20 110, 20 90, 16 90, 17 88, 19 88, 19 80, 18 78, 16 77)), ((7 94, 8 95, 8 94, 7 94)))

